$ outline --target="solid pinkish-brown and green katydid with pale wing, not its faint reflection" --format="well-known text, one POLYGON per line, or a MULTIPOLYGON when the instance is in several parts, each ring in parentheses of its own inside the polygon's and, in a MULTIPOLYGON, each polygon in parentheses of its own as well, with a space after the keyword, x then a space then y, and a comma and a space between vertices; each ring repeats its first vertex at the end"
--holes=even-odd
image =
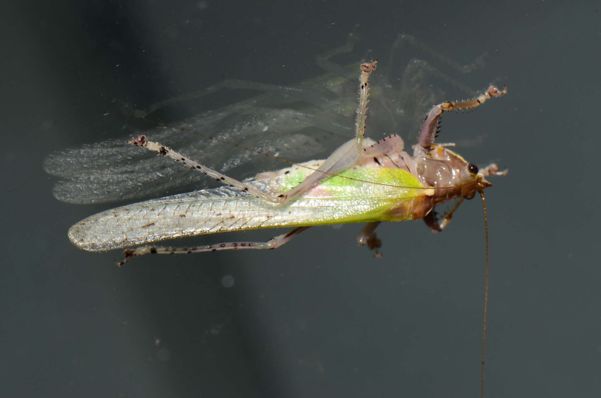
POLYGON ((377 61, 361 64, 355 138, 323 161, 294 164, 240 182, 140 135, 129 144, 158 152, 228 186, 172 195, 117 207, 90 216, 69 230, 69 239, 84 250, 106 251, 175 237, 259 228, 293 227, 268 242, 224 242, 186 248, 147 245, 124 252, 123 265, 143 254, 201 253, 219 250, 273 249, 312 225, 366 222, 359 244, 379 245, 374 230, 382 221, 423 218, 440 231, 465 198, 491 184, 484 177, 504 174, 495 164, 481 170, 444 145, 435 144, 443 112, 480 106, 507 89, 491 86, 475 99, 442 102, 427 114, 413 156, 400 136, 381 141, 365 138, 370 96, 369 77, 377 61), (442 218, 439 204, 457 200, 442 218))

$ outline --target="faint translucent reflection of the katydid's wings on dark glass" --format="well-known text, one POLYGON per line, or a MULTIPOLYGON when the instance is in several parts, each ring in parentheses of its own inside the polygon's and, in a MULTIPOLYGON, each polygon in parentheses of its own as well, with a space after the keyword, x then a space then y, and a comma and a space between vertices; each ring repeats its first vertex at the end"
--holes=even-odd
MULTIPOLYGON (((354 82, 342 83, 352 87, 351 93, 354 91, 354 82)), ((340 113, 338 93, 303 88, 294 89, 293 94, 264 93, 144 133, 219 171, 244 165, 246 172, 237 175, 239 178, 269 170, 268 158, 203 135, 291 161, 306 161, 313 155, 326 157, 332 148, 352 136, 353 111, 349 108, 347 114, 340 113)), ((130 135, 49 155, 44 170, 62 179, 53 189, 55 197, 67 203, 106 203, 206 186, 206 179, 199 173, 190 173, 182 165, 127 145, 130 135)))

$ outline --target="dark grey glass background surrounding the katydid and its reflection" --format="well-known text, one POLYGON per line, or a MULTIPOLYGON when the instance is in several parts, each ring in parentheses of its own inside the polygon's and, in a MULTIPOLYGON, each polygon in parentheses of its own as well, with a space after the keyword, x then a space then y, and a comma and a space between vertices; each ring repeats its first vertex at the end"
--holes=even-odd
MULTIPOLYGON (((356 247, 360 227, 346 225, 311 228, 275 251, 156 256, 115 269, 118 253, 85 253, 66 236, 110 206, 55 200, 41 167, 55 150, 126 138, 114 98, 147 106, 224 78, 294 84, 359 24, 362 40, 338 61, 386 59, 407 32, 460 63, 488 52, 486 67, 462 81, 510 87, 472 114, 446 117, 442 138, 484 136, 458 152, 510 169, 487 189, 486 396, 599 396, 599 5, 425 3, 5 9, 0 395, 478 396, 478 200, 441 234, 421 222, 382 225, 379 260, 356 247)), ((252 94, 225 90, 201 106, 252 94)), ((413 143, 413 132, 398 133, 413 143)))

